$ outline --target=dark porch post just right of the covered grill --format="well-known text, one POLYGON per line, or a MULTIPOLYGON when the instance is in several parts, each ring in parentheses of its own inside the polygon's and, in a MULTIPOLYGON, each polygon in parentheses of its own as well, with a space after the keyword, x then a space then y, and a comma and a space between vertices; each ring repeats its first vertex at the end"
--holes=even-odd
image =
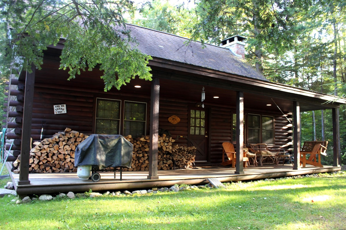
POLYGON ((148 179, 158 179, 157 155, 158 155, 158 108, 160 105, 160 81, 153 78, 151 83, 150 103, 150 144, 149 144, 149 176, 148 179))

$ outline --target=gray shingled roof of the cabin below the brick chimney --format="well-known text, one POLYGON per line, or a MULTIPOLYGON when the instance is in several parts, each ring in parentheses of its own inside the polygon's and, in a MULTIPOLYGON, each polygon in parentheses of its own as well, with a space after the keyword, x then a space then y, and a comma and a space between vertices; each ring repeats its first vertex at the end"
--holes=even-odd
POLYGON ((155 58, 191 64, 221 72, 268 81, 245 60, 236 57, 229 49, 192 41, 187 38, 157 30, 126 24, 137 48, 155 58))

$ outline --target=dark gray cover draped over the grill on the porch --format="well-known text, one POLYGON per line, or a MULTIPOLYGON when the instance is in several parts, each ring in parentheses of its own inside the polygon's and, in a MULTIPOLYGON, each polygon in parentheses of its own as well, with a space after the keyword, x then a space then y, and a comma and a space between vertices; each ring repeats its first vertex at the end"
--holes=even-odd
POLYGON ((131 168, 133 144, 121 135, 91 134, 74 152, 74 166, 131 168))

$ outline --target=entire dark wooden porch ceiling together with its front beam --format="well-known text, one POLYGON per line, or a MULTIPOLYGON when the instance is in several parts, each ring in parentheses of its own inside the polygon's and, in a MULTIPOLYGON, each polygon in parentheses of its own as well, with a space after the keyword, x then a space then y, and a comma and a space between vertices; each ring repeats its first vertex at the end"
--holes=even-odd
MULTIPOLYGON (((68 78, 67 71, 58 70, 59 62, 55 60, 45 60, 42 65, 42 70, 36 71, 36 85, 39 82, 51 81, 54 79, 54 86, 73 90, 90 89, 90 92, 105 93, 104 82, 100 79, 102 73, 94 70, 92 72, 85 71, 82 76, 77 76, 76 79, 68 81, 71 83, 66 86, 68 78), (47 77, 49 76, 49 77, 47 77), (59 85, 61 85, 59 87, 59 85)), ((246 84, 249 79, 241 77, 222 77, 211 78, 209 76, 201 76, 195 72, 181 72, 179 68, 167 70, 164 68, 153 67, 153 76, 160 78, 160 99, 169 99, 177 102, 197 103, 201 101, 201 91, 204 87, 206 92, 205 105, 218 105, 225 107, 236 106, 236 90, 244 92, 244 107, 245 110, 263 111, 271 110, 281 113, 291 112, 293 109, 293 100, 300 102, 301 111, 311 111, 320 109, 330 109, 338 107, 339 104, 323 104, 325 101, 314 97, 303 97, 298 93, 290 94, 285 91, 273 89, 271 86, 257 86, 256 82, 246 84), (239 80, 240 78, 240 80, 239 80), (233 79, 233 81, 232 81, 233 79), (245 83, 244 83, 245 82, 245 83), (213 98, 218 96, 219 98, 213 98), (272 106, 266 106, 272 104, 272 106), (280 108, 280 109, 279 109, 280 108)), ((260 82, 261 83, 261 82, 260 82)), ((259 83, 259 84, 260 84, 259 83)), ((297 90, 297 89, 296 89, 297 90)), ((126 86, 122 86, 120 93, 123 95, 136 94, 139 97, 150 97, 151 81, 140 80, 138 78, 131 80, 126 86), (140 85, 141 88, 135 88, 135 85, 140 85)), ((107 93, 117 93, 117 89, 112 89, 107 93)), ((313 94, 312 94, 313 96, 313 94)))

